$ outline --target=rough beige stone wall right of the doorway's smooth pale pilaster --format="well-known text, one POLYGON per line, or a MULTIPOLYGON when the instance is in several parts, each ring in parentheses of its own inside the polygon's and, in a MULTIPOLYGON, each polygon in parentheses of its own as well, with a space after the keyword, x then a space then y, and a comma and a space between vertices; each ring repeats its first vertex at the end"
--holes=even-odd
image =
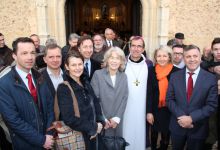
POLYGON ((219 0, 170 0, 169 38, 185 34, 186 44, 200 48, 220 37, 219 0))

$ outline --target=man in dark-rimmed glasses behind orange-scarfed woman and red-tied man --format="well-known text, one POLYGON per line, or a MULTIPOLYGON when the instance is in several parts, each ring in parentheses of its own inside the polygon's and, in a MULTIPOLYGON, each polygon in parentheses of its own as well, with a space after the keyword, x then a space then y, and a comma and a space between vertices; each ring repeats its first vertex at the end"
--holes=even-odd
POLYGON ((182 45, 174 45, 172 47, 173 50, 173 65, 177 68, 182 69, 185 67, 185 63, 183 61, 183 46, 182 45))

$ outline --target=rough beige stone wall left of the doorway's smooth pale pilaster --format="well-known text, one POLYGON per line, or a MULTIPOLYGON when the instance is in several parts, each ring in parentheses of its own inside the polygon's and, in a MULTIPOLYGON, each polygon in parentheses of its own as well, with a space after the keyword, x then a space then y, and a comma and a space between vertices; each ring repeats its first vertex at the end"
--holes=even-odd
POLYGON ((0 32, 9 47, 15 38, 37 33, 35 0, 0 0, 0 32))

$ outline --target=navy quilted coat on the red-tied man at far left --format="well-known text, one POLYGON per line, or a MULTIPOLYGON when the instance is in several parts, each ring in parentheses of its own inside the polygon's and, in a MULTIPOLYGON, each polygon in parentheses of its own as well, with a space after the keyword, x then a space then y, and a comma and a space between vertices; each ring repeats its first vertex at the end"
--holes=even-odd
POLYGON ((46 129, 54 120, 53 98, 48 87, 37 71, 32 70, 32 75, 38 104, 14 67, 0 79, 0 113, 15 150, 43 149, 46 129))

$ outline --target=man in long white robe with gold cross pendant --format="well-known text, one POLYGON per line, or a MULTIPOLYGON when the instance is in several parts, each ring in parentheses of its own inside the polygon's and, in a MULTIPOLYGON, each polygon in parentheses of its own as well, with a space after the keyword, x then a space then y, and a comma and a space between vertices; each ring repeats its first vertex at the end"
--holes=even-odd
POLYGON ((123 137, 130 144, 127 150, 146 149, 146 92, 150 61, 142 54, 144 47, 142 37, 135 36, 131 39, 125 69, 129 95, 123 120, 123 137))

